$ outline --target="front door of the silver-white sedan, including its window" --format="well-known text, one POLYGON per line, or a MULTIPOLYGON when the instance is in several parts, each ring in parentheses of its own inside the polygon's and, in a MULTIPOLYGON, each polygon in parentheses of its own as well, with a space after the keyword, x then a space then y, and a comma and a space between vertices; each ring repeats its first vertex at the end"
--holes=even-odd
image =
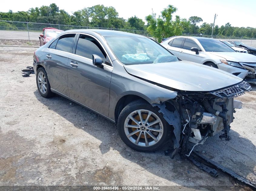
POLYGON ((187 60, 190 62, 201 63, 202 56, 203 56, 203 52, 200 46, 194 40, 185 38, 183 47, 179 51, 179 59, 187 60), (199 54, 196 54, 194 51, 191 51, 190 49, 192 47, 197 48, 199 50, 199 54))

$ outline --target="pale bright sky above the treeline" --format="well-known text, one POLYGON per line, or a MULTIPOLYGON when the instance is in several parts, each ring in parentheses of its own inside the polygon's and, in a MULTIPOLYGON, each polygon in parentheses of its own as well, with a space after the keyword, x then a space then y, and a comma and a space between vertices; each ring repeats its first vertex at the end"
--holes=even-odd
MULTIPOLYGON (((84 7, 91 7, 93 5, 113 6, 119 17, 128 19, 136 15, 145 21, 145 16, 152 13, 157 15, 169 4, 178 8, 174 14, 179 15, 180 18, 188 19, 191 16, 198 16, 203 19, 203 22, 213 23, 214 14, 218 14, 215 25, 219 27, 230 23, 234 27, 254 27, 256 28, 256 0, 154 0, 154 1, 116 1, 116 0, 93 0, 93 1, 63 1, 63 0, 26 0, 24 1, 5 1, 1 3, 0 12, 8 12, 10 9, 13 12, 28 11, 29 8, 41 7, 42 5, 49 6, 55 3, 59 9, 64 9, 69 14, 80 10, 84 7)), ((203 22, 199 23, 201 25, 203 22)))

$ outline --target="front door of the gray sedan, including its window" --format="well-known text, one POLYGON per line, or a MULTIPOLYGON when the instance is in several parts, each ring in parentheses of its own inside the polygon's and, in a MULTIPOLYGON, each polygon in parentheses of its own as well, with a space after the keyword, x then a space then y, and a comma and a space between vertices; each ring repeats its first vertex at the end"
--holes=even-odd
POLYGON ((80 34, 68 59, 68 89, 72 99, 108 116, 113 67, 94 37, 80 34), (103 59, 103 67, 92 64, 92 54, 103 59))

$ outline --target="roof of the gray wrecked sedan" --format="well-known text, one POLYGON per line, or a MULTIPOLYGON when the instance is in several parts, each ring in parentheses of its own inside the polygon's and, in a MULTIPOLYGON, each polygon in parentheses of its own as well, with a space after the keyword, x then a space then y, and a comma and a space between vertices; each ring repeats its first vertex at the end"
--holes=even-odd
MULTIPOLYGON (((142 35, 127 33, 118 30, 103 30, 103 29, 74 29, 74 30, 66 30, 65 33, 98 33, 103 37, 107 36, 119 36, 119 37, 144 37, 142 35)), ((146 38, 146 37, 145 37, 146 38)))

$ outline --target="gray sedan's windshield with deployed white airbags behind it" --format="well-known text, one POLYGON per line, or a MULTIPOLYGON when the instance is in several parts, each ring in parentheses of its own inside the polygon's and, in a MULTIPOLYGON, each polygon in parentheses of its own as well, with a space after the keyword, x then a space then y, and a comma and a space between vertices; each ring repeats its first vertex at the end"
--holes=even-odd
POLYGON ((105 37, 109 47, 125 65, 176 62, 178 58, 145 37, 105 37))

